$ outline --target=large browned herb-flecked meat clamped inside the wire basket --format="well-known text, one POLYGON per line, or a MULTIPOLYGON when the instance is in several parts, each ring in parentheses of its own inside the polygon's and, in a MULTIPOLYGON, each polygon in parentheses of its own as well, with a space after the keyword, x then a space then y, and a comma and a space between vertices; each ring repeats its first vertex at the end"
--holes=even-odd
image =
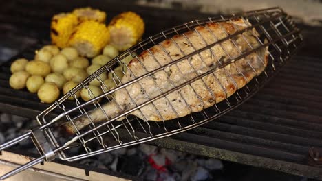
MULTIPOLYGON (((250 23, 243 19, 235 19, 200 25, 189 32, 173 36, 154 45, 149 51, 143 51, 138 56, 140 60, 136 58, 131 60, 129 69, 133 74, 127 71, 121 81, 122 83, 129 82, 135 77, 158 69, 164 64, 178 60, 184 55, 249 26, 250 23)), ((114 99, 102 106, 105 113, 98 108, 93 110, 89 116, 94 123, 107 121, 106 116, 112 119, 126 110, 135 108, 136 105, 148 101, 149 98, 158 96, 210 69, 215 69, 221 63, 240 56, 241 53, 259 47, 261 44, 257 37, 259 34, 255 29, 248 29, 242 34, 237 34, 222 43, 215 44, 211 50, 206 49, 165 69, 160 69, 151 76, 144 77, 138 82, 117 90, 114 99)), ((130 114, 147 121, 162 121, 184 117, 191 112, 200 112, 233 95, 237 89, 242 88, 253 77, 264 71, 267 63, 268 47, 261 47, 248 56, 227 64, 211 74, 204 75, 191 84, 156 99, 130 114)), ((78 130, 89 123, 88 117, 85 116, 74 120, 74 125, 78 130)), ((63 128, 74 134, 76 133, 74 125, 68 122, 63 125, 63 128)))

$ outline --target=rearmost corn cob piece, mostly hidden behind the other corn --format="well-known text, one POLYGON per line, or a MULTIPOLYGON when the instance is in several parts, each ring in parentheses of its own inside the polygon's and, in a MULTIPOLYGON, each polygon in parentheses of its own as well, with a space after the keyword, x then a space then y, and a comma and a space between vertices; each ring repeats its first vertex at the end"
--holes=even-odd
POLYGON ((95 10, 92 8, 77 8, 73 11, 80 21, 93 20, 98 23, 105 23, 106 13, 100 10, 95 10))

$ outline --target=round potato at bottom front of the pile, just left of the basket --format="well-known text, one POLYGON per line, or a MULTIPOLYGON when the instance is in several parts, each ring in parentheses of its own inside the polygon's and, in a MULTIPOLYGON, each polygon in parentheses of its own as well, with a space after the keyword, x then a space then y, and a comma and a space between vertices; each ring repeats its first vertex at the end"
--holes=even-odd
POLYGON ((59 97, 59 88, 55 83, 45 82, 39 88, 37 95, 41 102, 52 103, 59 97))

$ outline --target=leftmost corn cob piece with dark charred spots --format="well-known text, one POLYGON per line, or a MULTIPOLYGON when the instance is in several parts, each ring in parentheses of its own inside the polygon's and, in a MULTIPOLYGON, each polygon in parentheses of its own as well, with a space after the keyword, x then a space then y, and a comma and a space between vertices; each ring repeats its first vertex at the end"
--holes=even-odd
POLYGON ((52 43, 58 47, 67 47, 69 36, 78 25, 78 19, 75 14, 61 13, 52 18, 50 36, 52 43))

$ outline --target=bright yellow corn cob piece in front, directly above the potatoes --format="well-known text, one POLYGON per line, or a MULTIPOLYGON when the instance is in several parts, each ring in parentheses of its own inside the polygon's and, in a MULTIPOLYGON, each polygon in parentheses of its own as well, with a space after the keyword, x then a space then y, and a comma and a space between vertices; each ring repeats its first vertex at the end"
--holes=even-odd
POLYGON ((107 27, 96 21, 84 21, 69 38, 69 45, 75 47, 81 56, 94 57, 109 43, 107 27))

